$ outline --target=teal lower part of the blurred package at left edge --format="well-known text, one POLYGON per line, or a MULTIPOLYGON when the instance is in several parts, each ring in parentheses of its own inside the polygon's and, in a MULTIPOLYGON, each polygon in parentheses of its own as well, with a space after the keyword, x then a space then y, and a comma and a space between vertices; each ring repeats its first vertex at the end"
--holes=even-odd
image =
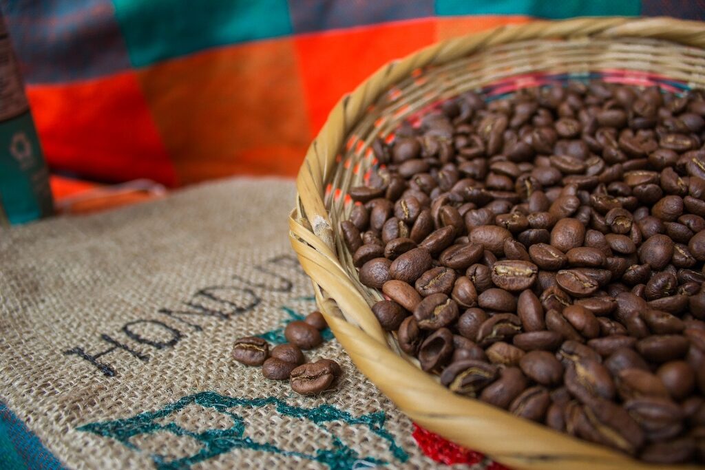
POLYGON ((0 123, 0 201, 10 223, 51 214, 49 171, 29 112, 0 123))

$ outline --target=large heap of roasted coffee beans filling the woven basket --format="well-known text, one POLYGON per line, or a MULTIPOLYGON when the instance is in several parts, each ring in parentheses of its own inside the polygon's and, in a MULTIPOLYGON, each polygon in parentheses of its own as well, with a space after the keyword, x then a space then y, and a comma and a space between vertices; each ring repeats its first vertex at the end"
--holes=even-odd
POLYGON ((705 462, 705 91, 570 82, 376 140, 341 236, 453 392, 649 462, 705 462))

